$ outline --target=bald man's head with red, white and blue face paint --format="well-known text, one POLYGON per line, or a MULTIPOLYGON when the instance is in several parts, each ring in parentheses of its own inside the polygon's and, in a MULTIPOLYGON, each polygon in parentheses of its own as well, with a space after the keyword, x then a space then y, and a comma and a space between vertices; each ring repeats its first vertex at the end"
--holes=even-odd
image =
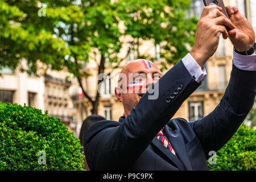
POLYGON ((125 116, 130 114, 144 93, 162 77, 160 69, 148 60, 135 60, 120 73, 118 87, 115 88, 115 96, 123 103, 125 116))

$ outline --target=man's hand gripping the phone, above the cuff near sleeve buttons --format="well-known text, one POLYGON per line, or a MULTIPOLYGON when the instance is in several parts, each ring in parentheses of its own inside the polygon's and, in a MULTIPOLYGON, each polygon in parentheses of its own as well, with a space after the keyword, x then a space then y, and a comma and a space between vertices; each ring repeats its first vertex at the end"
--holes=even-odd
POLYGON ((224 39, 228 38, 225 26, 232 30, 236 28, 231 20, 221 13, 221 9, 219 6, 205 6, 197 23, 196 40, 190 53, 200 67, 216 52, 220 35, 222 34, 224 39))

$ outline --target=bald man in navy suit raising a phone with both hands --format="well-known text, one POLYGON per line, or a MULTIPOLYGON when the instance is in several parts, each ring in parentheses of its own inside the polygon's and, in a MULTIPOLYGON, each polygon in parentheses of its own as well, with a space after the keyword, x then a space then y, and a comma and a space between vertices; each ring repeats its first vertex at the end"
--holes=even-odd
POLYGON ((237 7, 226 10, 229 19, 220 7, 204 8, 191 52, 164 76, 143 59, 123 68, 115 96, 125 116, 90 127, 84 148, 91 170, 208 170, 207 159, 236 132, 256 92, 255 33, 237 7), (207 75, 204 64, 221 34, 233 43, 234 55, 220 104, 197 121, 171 119, 207 75))

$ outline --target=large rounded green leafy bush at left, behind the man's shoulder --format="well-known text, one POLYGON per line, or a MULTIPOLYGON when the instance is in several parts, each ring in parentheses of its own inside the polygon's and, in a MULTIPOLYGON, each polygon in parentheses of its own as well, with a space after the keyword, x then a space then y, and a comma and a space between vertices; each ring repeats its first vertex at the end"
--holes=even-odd
POLYGON ((60 119, 0 102, 0 170, 82 170, 81 148, 60 119))

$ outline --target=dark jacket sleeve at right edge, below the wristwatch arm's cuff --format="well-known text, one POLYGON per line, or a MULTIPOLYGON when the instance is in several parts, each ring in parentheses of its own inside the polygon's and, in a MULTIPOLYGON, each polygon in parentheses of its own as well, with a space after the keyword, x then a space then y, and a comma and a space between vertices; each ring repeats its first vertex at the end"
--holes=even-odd
POLYGON ((204 118, 189 122, 207 159, 210 151, 218 151, 240 127, 253 107, 255 92, 256 71, 243 71, 233 64, 230 81, 220 104, 204 118))

